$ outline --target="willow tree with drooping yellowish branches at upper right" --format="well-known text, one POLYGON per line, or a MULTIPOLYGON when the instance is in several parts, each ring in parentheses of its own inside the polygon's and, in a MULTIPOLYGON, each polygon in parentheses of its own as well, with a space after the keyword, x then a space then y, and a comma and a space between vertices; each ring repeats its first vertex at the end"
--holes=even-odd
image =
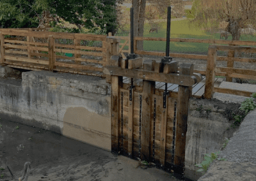
POLYGON ((225 20, 232 40, 239 40, 240 29, 255 24, 255 3, 255 0, 195 0, 192 6, 195 18, 189 21, 189 25, 218 29, 219 23, 225 20), (209 21, 211 24, 207 24, 209 21))

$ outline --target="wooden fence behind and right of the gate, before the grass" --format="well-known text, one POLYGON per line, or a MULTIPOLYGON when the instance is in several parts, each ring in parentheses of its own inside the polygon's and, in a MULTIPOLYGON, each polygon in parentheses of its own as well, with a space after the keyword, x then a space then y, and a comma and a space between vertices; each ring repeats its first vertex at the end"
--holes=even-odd
MULTIPOLYGON (((116 39, 118 39, 118 42, 120 40, 125 40, 125 43, 119 43, 119 46, 122 45, 122 47, 119 49, 120 54, 122 52, 130 52, 129 50, 122 50, 127 43, 129 43, 130 38, 127 36, 115 36, 116 39)), ((151 40, 151 41, 166 41, 166 38, 148 38, 148 37, 135 37, 134 38, 134 53, 140 54, 140 55, 157 55, 160 57, 164 57, 165 52, 150 52, 150 51, 141 51, 138 50, 136 47, 136 41, 138 40, 151 40)), ((237 45, 252 45, 255 46, 255 41, 232 41, 232 40, 198 40, 193 38, 170 38, 170 41, 176 41, 176 42, 193 42, 193 43, 212 43, 215 46, 214 50, 211 50, 211 45, 208 49, 208 55, 195 55, 195 54, 173 54, 170 53, 170 57, 181 57, 185 59, 206 59, 207 60, 207 66, 205 70, 198 70, 195 69, 195 73, 200 73, 201 75, 206 76, 206 82, 205 82, 205 98, 211 99, 213 92, 220 92, 225 94, 234 94, 237 96, 246 96, 250 97, 252 96, 253 92, 248 91, 236 91, 232 89, 223 89, 220 87, 214 87, 214 77, 216 76, 225 76, 227 82, 232 82, 232 78, 246 78, 250 80, 256 80, 256 71, 252 69, 236 69, 234 68, 234 61, 239 62, 250 62, 255 63, 256 59, 253 58, 241 58, 241 57, 234 57, 235 52, 250 52, 250 53, 256 53, 256 48, 253 47, 237 47, 237 45), (221 46, 216 45, 216 43, 220 44, 228 44, 229 46, 221 46), (228 55, 225 56, 217 56, 216 51, 227 51, 228 55), (214 53, 212 53, 214 52, 214 53), (227 61, 227 68, 224 67, 216 67, 216 61, 227 61)), ((125 58, 125 55, 122 54, 123 58, 125 58)), ((178 68, 179 70, 179 68, 178 68)), ((256 92, 256 90, 255 90, 256 92)))

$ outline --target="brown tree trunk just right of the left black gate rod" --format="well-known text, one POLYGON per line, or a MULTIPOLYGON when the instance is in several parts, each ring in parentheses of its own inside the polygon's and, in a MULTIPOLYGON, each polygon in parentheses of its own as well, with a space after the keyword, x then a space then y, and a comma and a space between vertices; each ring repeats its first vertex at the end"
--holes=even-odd
MULTIPOLYGON (((143 36, 146 0, 132 0, 134 36, 143 36)), ((137 50, 143 50, 143 41, 137 41, 137 50)))

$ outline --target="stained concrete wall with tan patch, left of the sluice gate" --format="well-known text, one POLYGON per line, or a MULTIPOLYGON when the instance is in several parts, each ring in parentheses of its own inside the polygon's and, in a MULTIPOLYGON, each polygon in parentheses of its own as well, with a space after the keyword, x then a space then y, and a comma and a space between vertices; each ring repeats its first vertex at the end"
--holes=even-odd
POLYGON ((111 150, 110 87, 102 78, 29 71, 22 82, 0 81, 1 118, 111 150))

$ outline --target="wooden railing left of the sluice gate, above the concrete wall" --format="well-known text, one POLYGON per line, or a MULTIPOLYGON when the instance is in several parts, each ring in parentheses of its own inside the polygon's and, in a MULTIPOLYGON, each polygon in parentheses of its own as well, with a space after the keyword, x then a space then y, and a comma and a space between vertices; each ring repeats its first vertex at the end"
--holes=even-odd
MULTIPOLYGON (((34 29, 35 30, 35 29, 34 29)), ((38 29, 36 29, 38 30, 38 29)), ((42 65, 48 65, 45 69, 53 71, 56 66, 63 68, 76 68, 81 70, 99 71, 102 73, 102 66, 106 64, 106 35, 94 35, 94 34, 78 34, 78 33, 55 33, 49 31, 33 31, 33 29, 0 29, 0 41, 1 41, 1 59, 0 63, 7 63, 6 60, 11 61, 21 61, 37 63, 42 65), (14 36, 25 36, 27 41, 12 40, 12 38, 4 38, 4 35, 14 35, 14 36), (45 42, 35 42, 35 38, 45 39, 45 42), (60 43, 55 43, 55 39, 71 39, 74 40, 74 45, 63 45, 60 43), (93 40, 102 41, 102 47, 88 47, 81 46, 81 40, 93 40), (6 44, 8 43, 8 44, 6 44), (22 45, 11 45, 10 43, 19 43, 22 45), (61 49, 61 48, 62 49, 61 49), (63 49, 63 48, 68 48, 63 49), (7 48, 12 48, 6 50, 7 48), (25 51, 13 50, 13 48, 24 49, 25 51), (81 50, 82 49, 82 50, 81 50), (96 50, 101 52, 86 52, 85 50, 96 50), (35 50, 35 52, 33 52, 35 50), (44 54, 44 51, 48 54, 44 54), (56 52, 75 54, 74 57, 67 57, 56 55, 56 52), (28 57, 13 56, 6 54, 23 54, 28 55, 28 57), (99 59, 84 59, 81 55, 93 55, 101 56, 102 60, 99 59), (33 56, 37 56, 36 59, 33 56), (46 60, 42 57, 47 58, 46 60), (60 62, 56 61, 56 58, 60 59, 70 59, 76 63, 60 62), (89 62, 95 64, 101 64, 102 66, 95 66, 94 64, 83 65, 81 62, 89 62)), ((103 74, 103 73, 102 73, 103 74)))

